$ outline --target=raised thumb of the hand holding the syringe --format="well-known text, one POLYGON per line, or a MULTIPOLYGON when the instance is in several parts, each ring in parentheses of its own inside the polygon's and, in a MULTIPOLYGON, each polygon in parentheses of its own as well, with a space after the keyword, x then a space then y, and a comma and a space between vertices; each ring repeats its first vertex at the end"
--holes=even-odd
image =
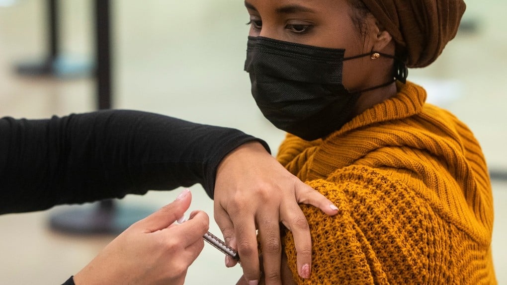
POLYGON ((190 207, 191 201, 192 193, 190 192, 190 189, 186 188, 179 193, 172 203, 140 220, 136 223, 136 226, 140 226, 148 232, 165 229, 185 214, 190 207))

